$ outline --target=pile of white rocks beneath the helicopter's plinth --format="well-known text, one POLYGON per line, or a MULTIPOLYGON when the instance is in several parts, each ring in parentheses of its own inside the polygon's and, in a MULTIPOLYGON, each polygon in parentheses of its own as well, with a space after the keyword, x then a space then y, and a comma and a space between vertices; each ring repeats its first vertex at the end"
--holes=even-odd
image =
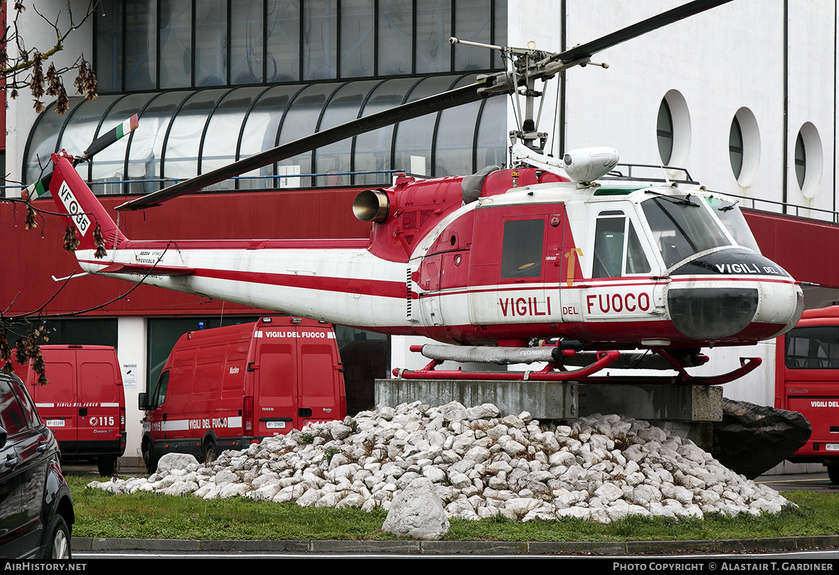
POLYGON ((547 426, 527 412, 498 417, 490 404, 419 401, 266 438, 211 464, 161 465, 149 478, 89 487, 388 510, 418 478, 435 485, 449 518, 468 520, 570 515, 609 523, 630 514, 759 515, 792 505, 648 422, 595 415, 547 426))

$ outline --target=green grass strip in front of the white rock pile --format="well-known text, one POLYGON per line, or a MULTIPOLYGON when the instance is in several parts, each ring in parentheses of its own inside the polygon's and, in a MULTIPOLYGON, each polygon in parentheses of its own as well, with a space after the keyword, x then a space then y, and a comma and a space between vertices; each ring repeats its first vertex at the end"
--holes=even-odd
MULTIPOLYGON (((90 479, 67 477, 76 510, 73 535, 145 539, 388 540, 380 531, 387 513, 355 509, 299 507, 248 498, 112 495, 87 489, 90 479)), ((798 508, 779 515, 672 521, 630 517, 608 526, 579 520, 529 521, 503 518, 451 520, 450 541, 664 541, 752 537, 818 536, 839 533, 835 494, 794 491, 782 494, 798 508)))

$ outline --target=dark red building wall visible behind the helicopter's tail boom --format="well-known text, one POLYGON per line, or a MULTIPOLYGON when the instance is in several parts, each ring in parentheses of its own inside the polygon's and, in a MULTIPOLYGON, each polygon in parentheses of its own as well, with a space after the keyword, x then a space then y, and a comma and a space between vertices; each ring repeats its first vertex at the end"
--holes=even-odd
MULTIPOLYGON (((358 189, 294 190, 238 194, 198 194, 173 199, 157 208, 121 213, 120 227, 132 239, 287 239, 367 237, 370 224, 352 215, 358 189)), ((127 196, 104 196, 111 209, 127 196)), ((55 211, 52 199, 35 207, 55 211)), ((117 212, 112 214, 116 219, 117 212)), ((66 284, 51 276, 78 272, 76 258, 62 249, 65 224, 39 215, 38 227, 24 231, 23 205, 0 206, 0 241, 4 247, 0 311, 29 313, 46 304, 44 313, 73 313, 106 303, 134 287, 107 277, 79 277, 66 284), (56 293, 57 292, 57 293, 56 293)), ((253 313, 253 308, 162 288, 139 286, 106 309, 88 315, 183 315, 253 313)))

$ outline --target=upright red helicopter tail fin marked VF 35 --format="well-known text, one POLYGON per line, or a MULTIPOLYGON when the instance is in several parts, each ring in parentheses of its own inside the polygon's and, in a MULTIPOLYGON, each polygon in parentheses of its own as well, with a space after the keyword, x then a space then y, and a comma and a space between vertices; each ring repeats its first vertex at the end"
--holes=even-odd
POLYGON ((80 241, 78 249, 96 250, 93 232, 97 225, 106 250, 128 241, 67 158, 54 153, 52 161, 55 169, 50 179, 50 192, 59 213, 67 215, 76 226, 76 237, 80 241))

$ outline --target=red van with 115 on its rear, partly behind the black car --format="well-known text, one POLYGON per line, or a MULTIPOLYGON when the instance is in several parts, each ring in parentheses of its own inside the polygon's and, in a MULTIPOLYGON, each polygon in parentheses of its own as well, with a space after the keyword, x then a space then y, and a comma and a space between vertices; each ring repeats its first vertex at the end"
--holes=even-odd
POLYGON ((112 475, 125 453, 125 393, 117 350, 106 345, 41 345, 45 374, 39 386, 29 365, 15 365, 62 462, 94 462, 112 475))

